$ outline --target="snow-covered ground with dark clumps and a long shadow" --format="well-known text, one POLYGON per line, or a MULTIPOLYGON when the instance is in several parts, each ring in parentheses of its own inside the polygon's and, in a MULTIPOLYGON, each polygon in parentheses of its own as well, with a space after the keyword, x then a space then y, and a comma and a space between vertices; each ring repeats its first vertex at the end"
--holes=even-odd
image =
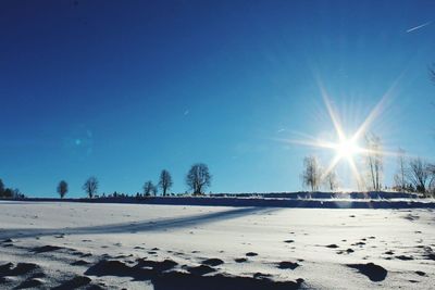
POLYGON ((435 211, 0 202, 0 288, 434 289, 435 211))

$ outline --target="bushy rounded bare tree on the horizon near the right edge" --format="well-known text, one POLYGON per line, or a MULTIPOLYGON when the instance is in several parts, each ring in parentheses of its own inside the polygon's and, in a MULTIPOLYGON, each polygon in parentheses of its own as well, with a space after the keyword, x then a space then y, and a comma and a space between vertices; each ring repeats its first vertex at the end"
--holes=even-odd
POLYGON ((425 194, 427 181, 431 178, 431 165, 421 157, 411 159, 408 164, 407 178, 417 192, 425 194))

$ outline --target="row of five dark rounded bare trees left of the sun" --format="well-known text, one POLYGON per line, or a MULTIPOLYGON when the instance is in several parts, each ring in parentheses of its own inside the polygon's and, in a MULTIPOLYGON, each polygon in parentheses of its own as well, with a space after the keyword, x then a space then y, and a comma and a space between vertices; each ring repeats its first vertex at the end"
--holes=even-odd
MULTIPOLYGON (((206 189, 211 186, 212 176, 209 167, 203 163, 196 163, 191 165, 189 172, 186 175, 186 185, 189 190, 192 191, 194 196, 204 194, 206 189)), ((157 196, 159 190, 162 196, 169 196, 173 186, 172 175, 169 171, 163 169, 160 173, 159 181, 154 185, 152 180, 148 180, 142 186, 142 193, 137 193, 136 197, 151 197, 157 196)), ((86 179, 82 189, 86 193, 87 198, 92 199, 97 197, 99 181, 97 177, 90 176, 86 179)), ((69 184, 65 180, 61 180, 57 187, 57 192, 63 199, 69 192, 69 184)), ((122 197, 125 194, 119 194, 114 192, 112 197, 122 197)), ((103 196, 105 197, 105 194, 103 196)))

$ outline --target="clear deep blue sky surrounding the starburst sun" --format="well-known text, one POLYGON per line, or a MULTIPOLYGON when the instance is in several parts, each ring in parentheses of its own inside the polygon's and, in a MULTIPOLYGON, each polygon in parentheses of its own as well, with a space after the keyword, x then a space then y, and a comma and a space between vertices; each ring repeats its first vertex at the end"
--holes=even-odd
MULTIPOLYGON (((0 178, 28 197, 302 190, 303 157, 351 135, 435 161, 435 1, 1 1, 0 178), (383 99, 383 96, 384 99, 383 99)), ((364 171, 362 164, 358 168, 364 171)), ((343 188, 352 188, 345 162, 343 188)), ((390 186, 397 161, 384 159, 390 186)))

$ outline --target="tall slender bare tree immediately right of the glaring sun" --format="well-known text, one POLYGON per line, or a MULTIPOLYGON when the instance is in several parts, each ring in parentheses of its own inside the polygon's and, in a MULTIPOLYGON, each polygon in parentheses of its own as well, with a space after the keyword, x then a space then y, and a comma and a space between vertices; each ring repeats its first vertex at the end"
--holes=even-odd
POLYGON ((369 179, 373 190, 380 191, 382 189, 382 147, 381 138, 374 134, 365 135, 366 146, 366 164, 369 167, 369 179))

